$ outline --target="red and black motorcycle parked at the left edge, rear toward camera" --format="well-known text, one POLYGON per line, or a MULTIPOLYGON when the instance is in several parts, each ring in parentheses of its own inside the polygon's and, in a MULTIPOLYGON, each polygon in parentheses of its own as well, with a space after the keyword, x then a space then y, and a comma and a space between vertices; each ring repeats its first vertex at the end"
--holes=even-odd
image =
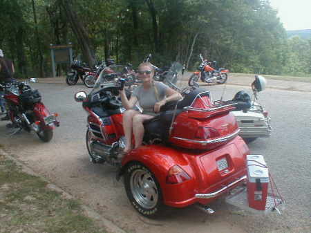
POLYGON ((58 114, 50 114, 41 102, 39 91, 23 82, 0 84, 0 87, 5 90, 8 116, 15 129, 12 134, 22 129, 35 131, 43 142, 49 142, 53 138, 55 126, 59 127, 58 114))

